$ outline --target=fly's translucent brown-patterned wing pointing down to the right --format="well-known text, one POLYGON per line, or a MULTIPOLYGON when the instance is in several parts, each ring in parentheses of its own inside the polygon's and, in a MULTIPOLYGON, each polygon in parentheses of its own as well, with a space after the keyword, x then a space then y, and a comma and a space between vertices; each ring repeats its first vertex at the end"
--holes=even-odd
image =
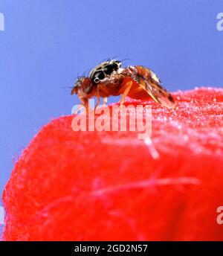
POLYGON ((174 107, 175 101, 172 95, 162 86, 158 76, 153 71, 149 70, 149 68, 145 69, 146 74, 143 78, 139 79, 138 84, 161 106, 167 106, 169 108, 174 107))

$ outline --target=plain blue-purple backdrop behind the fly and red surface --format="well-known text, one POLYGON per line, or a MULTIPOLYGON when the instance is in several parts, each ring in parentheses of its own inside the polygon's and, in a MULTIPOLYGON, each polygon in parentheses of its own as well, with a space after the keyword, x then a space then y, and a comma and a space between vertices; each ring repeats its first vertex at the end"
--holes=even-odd
POLYGON ((0 193, 39 128, 79 102, 62 86, 107 57, 152 68, 172 91, 223 87, 222 12, 222 0, 1 0, 0 193))

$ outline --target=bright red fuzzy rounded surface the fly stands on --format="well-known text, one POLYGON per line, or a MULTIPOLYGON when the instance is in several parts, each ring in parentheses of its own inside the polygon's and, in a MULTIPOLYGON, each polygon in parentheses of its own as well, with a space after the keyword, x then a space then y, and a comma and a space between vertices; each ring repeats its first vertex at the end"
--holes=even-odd
POLYGON ((174 96, 149 102, 158 159, 135 132, 42 127, 4 190, 4 240, 223 240, 223 89, 174 96))

